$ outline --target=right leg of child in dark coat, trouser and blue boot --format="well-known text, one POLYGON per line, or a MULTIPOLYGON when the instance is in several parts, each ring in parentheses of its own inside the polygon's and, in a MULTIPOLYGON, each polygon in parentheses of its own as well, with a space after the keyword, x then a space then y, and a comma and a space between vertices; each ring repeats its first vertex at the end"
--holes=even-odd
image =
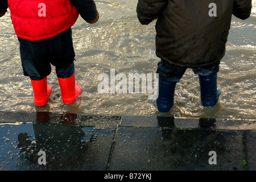
POLYGON ((201 104, 204 107, 213 107, 217 104, 220 91, 217 90, 217 72, 219 65, 210 68, 195 68, 193 71, 199 75, 201 104))

